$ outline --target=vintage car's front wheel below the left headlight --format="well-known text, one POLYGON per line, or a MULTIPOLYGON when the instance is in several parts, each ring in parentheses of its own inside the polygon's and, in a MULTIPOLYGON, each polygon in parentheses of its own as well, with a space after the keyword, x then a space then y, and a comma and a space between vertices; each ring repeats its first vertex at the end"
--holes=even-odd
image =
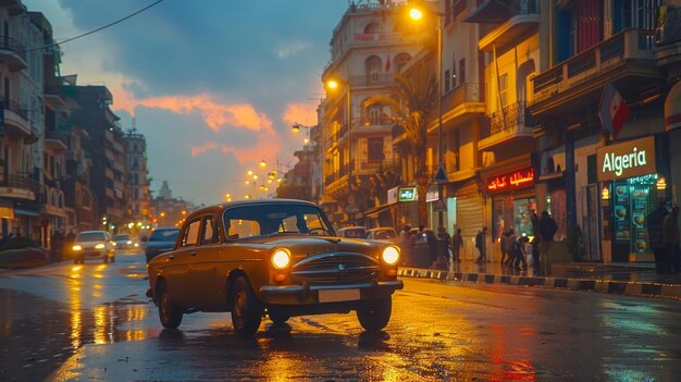
POLYGON ((262 320, 262 306, 246 278, 238 276, 232 284, 232 324, 240 336, 253 335, 262 320))

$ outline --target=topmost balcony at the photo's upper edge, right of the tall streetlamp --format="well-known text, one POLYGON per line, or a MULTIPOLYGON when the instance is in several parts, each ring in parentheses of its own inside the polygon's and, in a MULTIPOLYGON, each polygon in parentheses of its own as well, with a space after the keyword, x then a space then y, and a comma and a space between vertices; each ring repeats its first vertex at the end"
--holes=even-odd
POLYGON ((503 50, 537 30, 540 4, 537 0, 487 0, 466 19, 469 23, 497 24, 486 29, 478 42, 478 49, 492 52, 503 50))

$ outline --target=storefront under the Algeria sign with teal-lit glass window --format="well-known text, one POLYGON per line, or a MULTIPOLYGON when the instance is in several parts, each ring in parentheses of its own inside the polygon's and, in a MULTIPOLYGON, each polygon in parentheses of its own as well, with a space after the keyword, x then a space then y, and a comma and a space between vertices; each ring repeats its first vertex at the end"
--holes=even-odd
POLYGON ((655 137, 648 136, 596 150, 602 237, 611 245, 614 262, 653 261, 647 215, 667 198, 655 148, 655 137))

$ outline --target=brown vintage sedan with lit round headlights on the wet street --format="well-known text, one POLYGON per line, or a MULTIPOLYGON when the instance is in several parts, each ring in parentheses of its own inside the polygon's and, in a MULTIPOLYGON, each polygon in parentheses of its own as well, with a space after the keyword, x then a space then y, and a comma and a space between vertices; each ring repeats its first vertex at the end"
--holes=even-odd
POLYGON ((225 202, 191 213, 175 248, 147 264, 161 324, 183 315, 230 311, 235 332, 255 334, 264 315, 357 312, 368 331, 392 313, 399 248, 337 237, 314 204, 288 199, 225 202))

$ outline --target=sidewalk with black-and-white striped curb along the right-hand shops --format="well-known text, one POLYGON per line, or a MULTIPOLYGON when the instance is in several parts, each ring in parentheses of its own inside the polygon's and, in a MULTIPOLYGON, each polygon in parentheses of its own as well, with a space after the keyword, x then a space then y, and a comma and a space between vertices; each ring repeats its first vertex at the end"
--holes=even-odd
POLYGON ((552 266, 548 276, 544 276, 535 274, 531 267, 528 271, 516 271, 498 262, 478 264, 462 260, 449 270, 400 268, 398 275, 681 299, 681 275, 658 274, 653 263, 558 263, 552 266))

